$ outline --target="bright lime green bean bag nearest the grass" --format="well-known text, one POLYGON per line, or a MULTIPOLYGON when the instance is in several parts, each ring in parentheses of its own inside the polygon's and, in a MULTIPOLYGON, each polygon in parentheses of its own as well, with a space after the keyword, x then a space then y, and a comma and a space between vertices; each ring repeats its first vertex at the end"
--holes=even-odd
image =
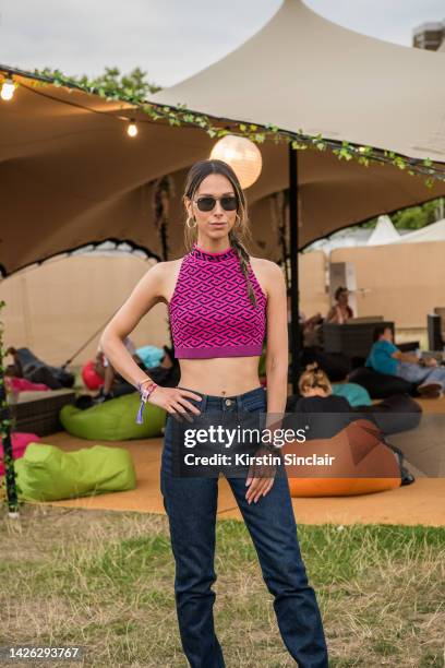
POLYGON ((123 448, 93 445, 63 452, 55 445, 29 443, 14 463, 19 498, 58 501, 135 489, 131 455, 123 448))

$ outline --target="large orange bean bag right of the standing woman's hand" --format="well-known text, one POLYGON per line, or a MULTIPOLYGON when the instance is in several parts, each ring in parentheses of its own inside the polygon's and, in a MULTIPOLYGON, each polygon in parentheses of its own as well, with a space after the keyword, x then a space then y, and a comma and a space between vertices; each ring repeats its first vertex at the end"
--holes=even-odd
POLYGON ((400 487, 396 457, 381 439, 378 427, 359 419, 330 439, 286 443, 281 452, 291 497, 348 497, 400 487))

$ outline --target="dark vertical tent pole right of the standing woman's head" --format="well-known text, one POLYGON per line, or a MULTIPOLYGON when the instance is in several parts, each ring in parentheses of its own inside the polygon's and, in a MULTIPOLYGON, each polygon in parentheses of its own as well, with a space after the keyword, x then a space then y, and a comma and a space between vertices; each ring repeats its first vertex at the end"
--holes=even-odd
POLYGON ((292 394, 298 393, 300 375, 300 323, 299 323, 299 281, 298 281, 298 151, 289 144, 289 236, 290 236, 290 336, 292 353, 290 382, 292 394))

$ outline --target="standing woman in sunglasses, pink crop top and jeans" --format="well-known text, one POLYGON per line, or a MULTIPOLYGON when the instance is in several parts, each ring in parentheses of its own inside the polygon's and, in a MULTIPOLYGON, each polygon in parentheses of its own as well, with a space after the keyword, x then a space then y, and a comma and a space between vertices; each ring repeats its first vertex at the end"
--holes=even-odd
MULTIPOLYGON (((241 411, 260 415, 266 408, 267 414, 284 413, 286 286, 277 264, 250 258, 244 249, 246 202, 229 165, 221 160, 193 165, 183 203, 189 252, 180 260, 160 262, 145 274, 107 325, 101 344, 118 371, 139 386, 143 403, 148 401, 169 414, 160 487, 176 559, 179 630, 193 668, 219 668, 225 663, 214 630, 215 593, 211 588, 216 581, 218 480, 172 475, 173 419, 182 421, 209 411, 234 418, 241 411), (177 387, 152 383, 122 343, 158 301, 169 307, 181 368, 177 387), (265 335, 267 398, 257 373, 265 335)), ((260 446, 256 452, 266 449, 260 446)), ((288 479, 274 477, 270 469, 275 470, 253 465, 246 476, 228 477, 228 482, 252 536, 264 580, 275 596, 274 609, 289 653, 302 668, 326 667, 322 619, 300 554, 288 479)))

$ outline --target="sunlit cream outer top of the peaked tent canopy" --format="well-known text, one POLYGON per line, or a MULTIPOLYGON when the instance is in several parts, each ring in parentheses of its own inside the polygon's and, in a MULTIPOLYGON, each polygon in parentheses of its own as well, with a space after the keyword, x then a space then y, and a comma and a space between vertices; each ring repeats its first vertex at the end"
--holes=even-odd
POLYGON ((285 0, 238 49, 151 99, 445 162, 443 64, 285 0))

